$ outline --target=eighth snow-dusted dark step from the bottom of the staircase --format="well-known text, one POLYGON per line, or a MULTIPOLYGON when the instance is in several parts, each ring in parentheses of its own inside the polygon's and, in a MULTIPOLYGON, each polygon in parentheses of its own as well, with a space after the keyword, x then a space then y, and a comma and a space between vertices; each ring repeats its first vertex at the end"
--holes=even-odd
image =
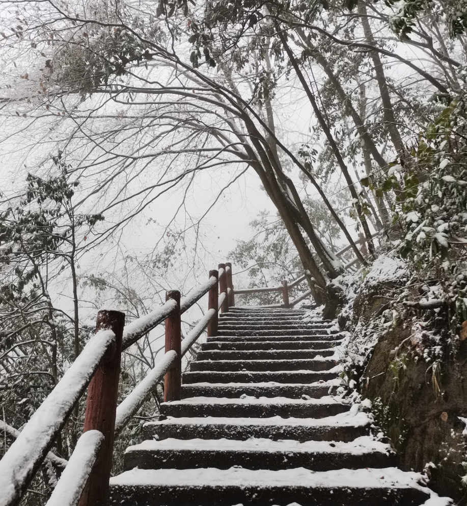
POLYGON ((270 350, 208 350, 198 351, 196 360, 292 360, 330 357, 333 349, 270 349, 270 350))

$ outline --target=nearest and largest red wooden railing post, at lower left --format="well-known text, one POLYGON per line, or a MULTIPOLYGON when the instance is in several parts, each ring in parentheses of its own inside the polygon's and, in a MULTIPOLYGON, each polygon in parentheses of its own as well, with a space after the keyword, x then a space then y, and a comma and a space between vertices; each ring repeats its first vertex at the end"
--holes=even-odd
POLYGON ((83 432, 96 429, 104 435, 105 439, 78 506, 107 504, 108 480, 112 470, 114 449, 115 413, 124 325, 125 313, 120 311, 99 311, 97 313, 96 332, 102 328, 110 328, 115 333, 115 344, 107 350, 88 387, 83 432))

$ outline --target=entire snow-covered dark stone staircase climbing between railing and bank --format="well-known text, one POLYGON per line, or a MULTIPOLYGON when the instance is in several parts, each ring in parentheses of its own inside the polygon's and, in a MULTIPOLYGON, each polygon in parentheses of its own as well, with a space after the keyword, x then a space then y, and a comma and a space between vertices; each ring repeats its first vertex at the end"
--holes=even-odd
POLYGON ((367 414, 333 395, 342 336, 305 311, 230 308, 111 479, 123 506, 420 505, 367 414))

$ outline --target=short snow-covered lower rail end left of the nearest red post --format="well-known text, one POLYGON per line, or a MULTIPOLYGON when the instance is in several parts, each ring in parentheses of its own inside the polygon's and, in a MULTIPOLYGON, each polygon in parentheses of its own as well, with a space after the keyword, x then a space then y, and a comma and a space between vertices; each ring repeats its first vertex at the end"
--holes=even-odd
POLYGON ((104 435, 99 431, 87 431, 78 439, 68 465, 45 506, 76 506, 103 441, 104 435))

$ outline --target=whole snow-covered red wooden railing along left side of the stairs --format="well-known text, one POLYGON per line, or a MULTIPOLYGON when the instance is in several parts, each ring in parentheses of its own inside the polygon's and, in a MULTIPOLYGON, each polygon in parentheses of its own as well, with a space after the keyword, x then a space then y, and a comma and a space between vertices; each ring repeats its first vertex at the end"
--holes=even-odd
MULTIPOLYGON (((162 378, 164 378, 164 384, 178 383, 181 386, 181 370, 176 374, 173 373, 177 362, 181 363, 181 358, 195 344, 206 328, 208 336, 216 335, 218 311, 228 312, 229 295, 233 301, 231 264, 227 263, 219 264, 218 270, 209 271, 208 281, 189 292, 182 299, 180 299, 178 291, 167 292, 164 305, 133 320, 128 325, 123 325, 124 313, 108 309, 100 310, 97 317, 96 334, 89 340, 80 355, 65 372, 61 381, 24 425, 16 440, 0 460, 0 490, 2 490, 0 506, 16 506, 19 503, 86 388, 88 388, 88 399, 83 435, 77 442, 76 454, 73 452, 67 464, 70 469, 68 472, 63 472, 47 506, 53 506, 53 504, 94 506, 104 503, 108 495, 114 437, 120 434, 162 378), (226 271, 230 271, 230 275, 227 275, 226 271), (218 287, 221 287, 220 294, 218 287), (208 311, 182 342, 180 316, 206 293, 209 293, 208 311), (178 318, 178 336, 168 336, 168 328, 169 332, 171 328, 173 331, 173 325, 171 327, 167 324, 171 318, 178 318), (122 351, 163 321, 166 322, 166 349, 162 360, 117 406, 116 396, 122 351), (178 353, 173 347, 168 346, 168 337, 172 337, 175 342, 178 340, 178 353), (116 355, 118 355, 117 359, 116 355), (111 402, 109 406, 101 407, 99 400, 104 404, 107 398, 112 395, 109 396, 108 391, 100 392, 101 398, 99 399, 97 391, 101 385, 94 386, 93 383, 99 382, 96 380, 99 370, 112 360, 117 363, 117 367, 114 366, 114 369, 117 370, 115 402, 111 402), (92 395, 90 396, 90 390, 93 387, 95 387, 94 394, 97 394, 94 395, 94 398, 92 395), (110 432, 108 427, 105 431, 105 427, 99 426, 102 425, 102 418, 115 420, 110 432), (107 440, 110 441, 105 441, 105 432, 109 432, 107 440), (106 475, 102 475, 102 469, 96 472, 96 466, 100 465, 101 461, 107 461, 107 469, 104 473, 106 475), (108 462, 110 462, 110 466, 108 466, 108 462), (61 480, 68 479, 69 476, 73 476, 72 483, 65 484, 67 487, 64 487, 63 483, 59 486, 61 480), (92 482, 94 482, 94 486, 92 482), (65 489, 67 490, 66 497, 63 496, 65 489)), ((164 400, 179 399, 167 399, 164 392, 164 400)))

